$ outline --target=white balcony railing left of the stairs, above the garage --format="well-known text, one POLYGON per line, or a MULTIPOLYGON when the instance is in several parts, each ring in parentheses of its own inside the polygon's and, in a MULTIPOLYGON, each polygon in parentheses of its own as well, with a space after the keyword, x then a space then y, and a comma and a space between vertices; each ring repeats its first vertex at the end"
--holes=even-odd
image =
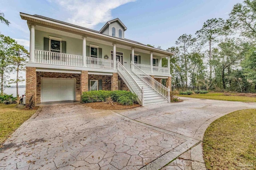
MULTIPOLYGON (((35 62, 65 66, 82 66, 82 56, 51 51, 35 50, 35 62)), ((113 60, 85 57, 86 67, 113 69, 113 60)))

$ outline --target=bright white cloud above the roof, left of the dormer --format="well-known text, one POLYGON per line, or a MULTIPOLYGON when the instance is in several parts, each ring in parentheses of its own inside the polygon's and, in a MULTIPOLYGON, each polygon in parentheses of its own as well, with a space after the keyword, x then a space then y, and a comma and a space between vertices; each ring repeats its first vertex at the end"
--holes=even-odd
POLYGON ((69 13, 68 22, 93 28, 98 23, 111 20, 111 10, 134 1, 136 0, 56 0, 56 3, 69 13))

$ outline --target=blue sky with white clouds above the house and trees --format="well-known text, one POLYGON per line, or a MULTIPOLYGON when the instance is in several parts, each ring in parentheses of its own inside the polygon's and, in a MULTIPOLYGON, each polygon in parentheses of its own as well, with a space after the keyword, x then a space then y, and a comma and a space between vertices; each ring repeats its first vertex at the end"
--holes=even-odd
POLYGON ((180 35, 194 35, 204 21, 228 18, 232 7, 242 1, 1 0, 0 11, 11 24, 9 27, 0 24, 0 31, 28 49, 29 29, 19 12, 38 14, 98 31, 106 21, 119 18, 128 28, 125 38, 167 49, 175 46, 180 35))

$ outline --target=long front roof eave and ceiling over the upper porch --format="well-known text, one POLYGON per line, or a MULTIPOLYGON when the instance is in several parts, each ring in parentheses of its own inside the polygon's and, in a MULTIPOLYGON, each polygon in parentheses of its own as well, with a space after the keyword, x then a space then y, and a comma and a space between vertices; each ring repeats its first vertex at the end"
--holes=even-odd
MULTIPOLYGON (((51 29, 51 31, 59 31, 58 34, 65 32, 66 36, 72 36, 78 39, 82 39, 81 36, 88 37, 88 41, 99 42, 106 45, 112 45, 112 43, 116 43, 117 47, 124 48, 124 49, 131 49, 131 47, 135 48, 135 51, 142 52, 142 53, 149 53, 152 51, 154 55, 166 57, 169 55, 173 55, 174 53, 170 53, 168 51, 156 49, 153 47, 148 47, 146 45, 142 45, 136 42, 128 41, 125 39, 119 39, 117 37, 111 37, 108 35, 104 35, 101 33, 97 33, 96 31, 90 29, 84 29, 82 27, 62 23, 52 20, 47 20, 44 18, 40 18, 38 16, 33 16, 29 14, 20 13, 20 16, 23 20, 27 20, 28 24, 35 24, 42 27, 47 27, 51 29)), ((36 29, 40 30, 42 27, 36 27, 36 29)), ((50 31, 50 30, 49 30, 50 31)))

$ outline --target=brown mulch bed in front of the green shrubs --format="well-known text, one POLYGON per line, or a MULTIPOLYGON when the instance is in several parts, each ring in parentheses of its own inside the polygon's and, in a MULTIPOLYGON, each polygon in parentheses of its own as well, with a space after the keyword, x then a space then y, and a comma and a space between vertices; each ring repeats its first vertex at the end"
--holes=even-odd
POLYGON ((139 104, 134 105, 120 105, 116 102, 114 104, 107 104, 104 102, 94 102, 94 103, 86 103, 85 106, 92 107, 93 109, 103 109, 103 110, 122 110, 122 109, 132 109, 135 107, 140 107, 139 104))

